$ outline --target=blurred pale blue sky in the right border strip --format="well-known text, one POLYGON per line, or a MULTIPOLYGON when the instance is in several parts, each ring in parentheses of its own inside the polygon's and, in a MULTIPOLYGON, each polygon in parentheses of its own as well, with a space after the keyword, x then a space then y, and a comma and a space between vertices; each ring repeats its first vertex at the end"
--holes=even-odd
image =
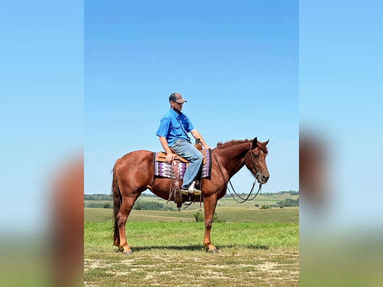
MULTIPOLYGON (((335 228, 383 226, 382 6, 300 2, 299 120, 327 145, 330 204, 323 213, 335 228)), ((311 211, 303 201, 301 225, 311 211)))

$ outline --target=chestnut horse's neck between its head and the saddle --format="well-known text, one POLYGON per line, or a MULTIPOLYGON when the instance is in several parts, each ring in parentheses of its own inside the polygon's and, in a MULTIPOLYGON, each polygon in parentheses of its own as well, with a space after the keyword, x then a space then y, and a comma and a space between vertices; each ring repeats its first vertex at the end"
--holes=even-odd
POLYGON ((217 148, 216 153, 222 171, 230 178, 244 165, 244 157, 250 149, 250 142, 231 145, 226 148, 217 148))

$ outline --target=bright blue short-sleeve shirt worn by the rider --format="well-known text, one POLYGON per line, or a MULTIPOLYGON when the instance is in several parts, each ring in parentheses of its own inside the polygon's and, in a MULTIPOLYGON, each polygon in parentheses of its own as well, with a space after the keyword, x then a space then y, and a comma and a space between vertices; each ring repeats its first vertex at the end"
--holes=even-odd
POLYGON ((190 142, 187 132, 192 129, 194 129, 194 126, 186 114, 182 112, 178 114, 170 108, 161 118, 161 123, 155 134, 166 137, 167 144, 171 146, 177 139, 190 142))

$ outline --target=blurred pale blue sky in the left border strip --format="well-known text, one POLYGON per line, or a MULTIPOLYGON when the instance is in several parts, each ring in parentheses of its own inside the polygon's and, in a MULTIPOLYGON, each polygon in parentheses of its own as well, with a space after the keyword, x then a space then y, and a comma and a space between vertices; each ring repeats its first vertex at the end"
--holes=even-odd
POLYGON ((59 168, 82 154, 83 3, 4 2, 0 32, 0 225, 39 233, 59 168))

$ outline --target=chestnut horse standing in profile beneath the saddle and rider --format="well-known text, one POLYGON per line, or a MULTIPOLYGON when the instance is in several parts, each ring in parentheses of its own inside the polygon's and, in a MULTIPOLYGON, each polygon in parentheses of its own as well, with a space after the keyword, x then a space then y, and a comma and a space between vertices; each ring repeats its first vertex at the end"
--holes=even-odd
MULTIPOLYGON (((218 252, 210 241, 211 222, 217 200, 226 193, 227 182, 243 165, 246 165, 259 183, 266 183, 269 174, 265 162, 265 142, 231 140, 218 142, 212 149, 211 176, 202 178, 201 191, 205 215, 203 245, 209 252, 218 252)), ((168 199, 170 178, 153 175, 153 152, 136 150, 118 158, 113 167, 111 192, 113 196, 113 245, 123 254, 132 254, 126 242, 125 223, 135 200, 146 188, 155 195, 168 199)), ((180 182, 180 185, 182 183, 180 182)))

